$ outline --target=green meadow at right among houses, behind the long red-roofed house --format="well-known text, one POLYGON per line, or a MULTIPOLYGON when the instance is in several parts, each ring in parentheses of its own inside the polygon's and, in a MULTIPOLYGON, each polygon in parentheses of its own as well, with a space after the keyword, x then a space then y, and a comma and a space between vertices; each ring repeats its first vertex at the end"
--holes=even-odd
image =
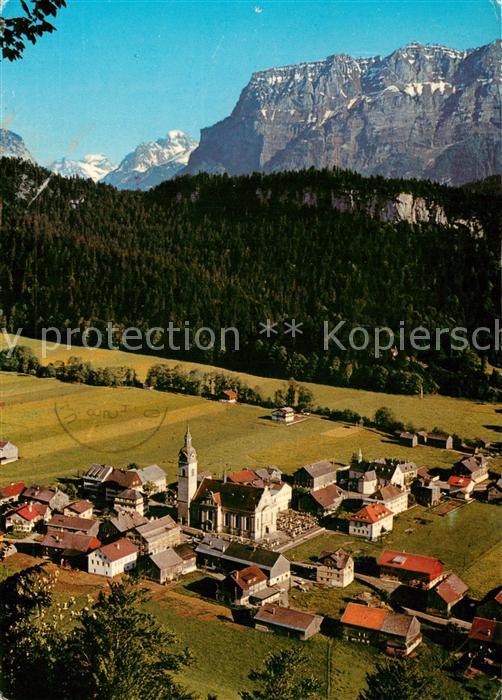
MULTIPOLYGON (((354 555, 378 557, 389 548, 439 557, 465 581, 470 595, 476 598, 500 585, 500 511, 487 503, 472 502, 442 517, 415 506, 394 520, 394 529, 383 544, 329 532, 289 550, 287 556, 308 561, 323 549, 338 547, 354 555)), ((351 593, 350 588, 348 592, 351 593)))

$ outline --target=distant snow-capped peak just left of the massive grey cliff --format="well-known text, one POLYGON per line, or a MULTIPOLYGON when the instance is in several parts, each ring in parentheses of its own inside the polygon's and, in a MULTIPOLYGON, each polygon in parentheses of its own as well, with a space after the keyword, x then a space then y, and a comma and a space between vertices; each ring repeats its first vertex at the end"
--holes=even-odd
POLYGON ((140 144, 103 182, 118 189, 149 190, 173 178, 196 146, 197 141, 183 131, 169 131, 165 139, 140 144))

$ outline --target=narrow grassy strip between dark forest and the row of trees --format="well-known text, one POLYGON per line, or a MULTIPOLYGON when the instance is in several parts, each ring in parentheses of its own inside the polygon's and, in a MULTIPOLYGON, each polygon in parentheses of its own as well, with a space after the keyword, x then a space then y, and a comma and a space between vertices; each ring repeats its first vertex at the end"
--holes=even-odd
MULTIPOLYGON (((127 365, 134 367, 138 376, 145 378, 148 369, 157 362, 163 362, 170 366, 182 364, 186 369, 198 369, 201 372, 214 371, 214 367, 191 362, 178 362, 165 360, 148 355, 132 354, 114 350, 92 350, 75 347, 66 349, 60 346, 50 349, 46 358, 42 358, 42 344, 39 340, 22 337, 20 345, 30 347, 43 362, 67 360, 70 356, 79 356, 92 362, 97 367, 110 367, 115 365, 127 365)), ((6 339, 0 335, 0 347, 6 346, 6 339)), ((226 371, 226 370, 222 370, 226 371)), ((233 374, 232 372, 228 372, 233 374)), ((257 388, 266 396, 273 396, 274 392, 284 382, 279 379, 256 377, 250 374, 239 373, 239 376, 249 386, 257 388)), ((396 417, 404 423, 411 422, 417 428, 424 427, 431 430, 439 426, 450 432, 456 432, 463 437, 480 437, 495 440, 497 438, 496 426, 500 424, 500 416, 497 416, 496 407, 490 404, 453 399, 446 396, 425 396, 420 399, 417 396, 399 396, 396 394, 383 394, 373 391, 357 389, 345 389, 321 384, 305 383, 314 394, 314 403, 319 406, 328 406, 332 409, 349 408, 361 415, 372 417, 381 406, 389 406, 396 417)))

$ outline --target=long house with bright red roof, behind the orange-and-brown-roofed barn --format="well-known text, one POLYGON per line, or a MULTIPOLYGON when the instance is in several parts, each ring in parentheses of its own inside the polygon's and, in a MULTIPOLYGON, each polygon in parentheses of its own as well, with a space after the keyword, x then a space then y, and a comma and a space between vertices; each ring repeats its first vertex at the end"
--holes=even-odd
POLYGON ((423 554, 385 549, 377 564, 380 578, 397 580, 413 588, 428 590, 444 577, 443 562, 423 554))

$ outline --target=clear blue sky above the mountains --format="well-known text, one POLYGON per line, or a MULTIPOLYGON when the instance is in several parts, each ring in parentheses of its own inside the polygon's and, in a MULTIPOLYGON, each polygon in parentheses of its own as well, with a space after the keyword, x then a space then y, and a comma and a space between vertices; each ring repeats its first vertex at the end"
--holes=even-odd
POLYGON ((57 32, 0 63, 1 119, 41 163, 119 161, 170 129, 198 138, 253 71, 410 41, 479 46, 500 35, 497 12, 497 0, 68 0, 57 32))

